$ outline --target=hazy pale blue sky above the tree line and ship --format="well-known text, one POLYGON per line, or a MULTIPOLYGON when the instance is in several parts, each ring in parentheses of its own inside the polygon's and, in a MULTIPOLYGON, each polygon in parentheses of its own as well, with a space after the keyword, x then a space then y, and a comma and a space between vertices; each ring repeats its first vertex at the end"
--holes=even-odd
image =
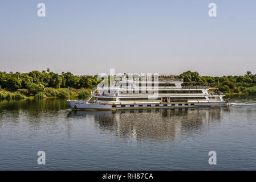
POLYGON ((1 0, 0 71, 256 74, 255 34, 255 0, 1 0))

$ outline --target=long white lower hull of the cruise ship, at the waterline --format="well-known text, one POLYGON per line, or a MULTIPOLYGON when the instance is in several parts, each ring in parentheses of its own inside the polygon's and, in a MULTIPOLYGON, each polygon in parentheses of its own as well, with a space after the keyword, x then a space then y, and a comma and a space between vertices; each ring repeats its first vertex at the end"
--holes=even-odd
POLYGON ((170 108, 170 107, 198 107, 198 106, 226 106, 227 101, 213 102, 177 102, 177 103, 144 103, 144 104, 94 104, 86 101, 67 101, 72 109, 78 110, 117 110, 117 109, 154 109, 154 108, 170 108))

